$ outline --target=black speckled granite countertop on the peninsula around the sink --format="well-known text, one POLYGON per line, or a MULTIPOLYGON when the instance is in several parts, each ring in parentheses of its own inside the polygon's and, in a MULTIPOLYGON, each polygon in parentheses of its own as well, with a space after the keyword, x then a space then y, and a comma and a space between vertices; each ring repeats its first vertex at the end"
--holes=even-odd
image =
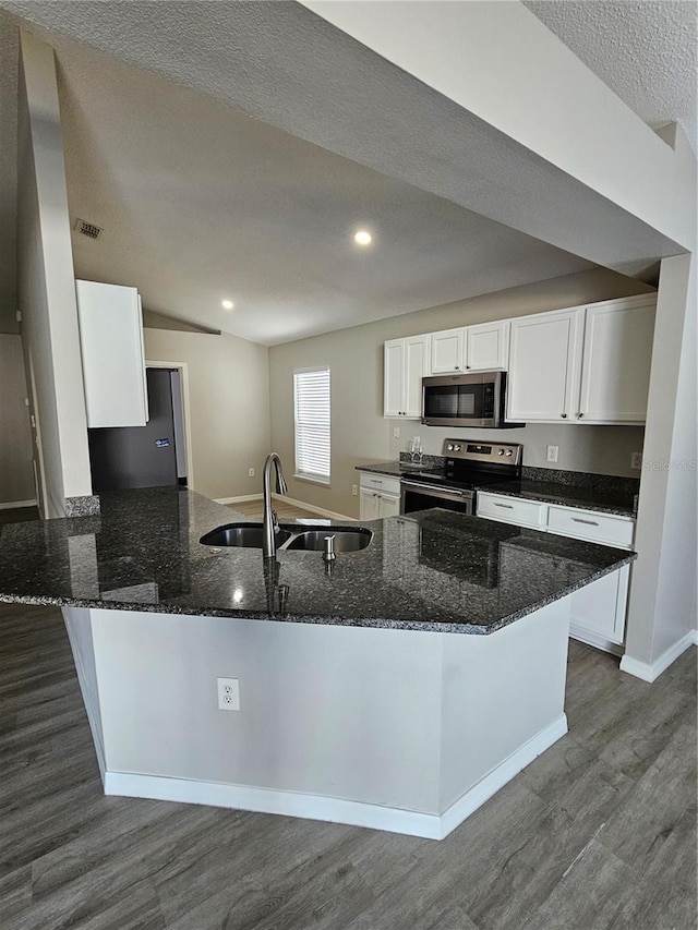
POLYGON ((265 568, 260 549, 198 542, 238 518, 161 487, 101 495, 99 516, 7 526, 0 601, 490 633, 635 558, 434 509, 365 523, 371 544, 328 575, 317 552, 265 568))

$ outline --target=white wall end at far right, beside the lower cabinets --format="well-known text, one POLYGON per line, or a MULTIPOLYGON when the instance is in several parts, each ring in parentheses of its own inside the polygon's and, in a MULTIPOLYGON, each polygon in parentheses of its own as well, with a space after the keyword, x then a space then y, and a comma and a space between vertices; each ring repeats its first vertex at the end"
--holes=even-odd
POLYGON ((695 256, 662 263, 657 309, 626 645, 648 677, 696 627, 695 256))

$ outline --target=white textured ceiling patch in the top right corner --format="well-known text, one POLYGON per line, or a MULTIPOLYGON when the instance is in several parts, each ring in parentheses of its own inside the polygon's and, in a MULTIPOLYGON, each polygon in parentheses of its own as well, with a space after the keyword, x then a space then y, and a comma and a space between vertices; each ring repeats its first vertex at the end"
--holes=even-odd
POLYGON ((679 123, 698 149, 696 0, 524 0, 645 120, 679 123))

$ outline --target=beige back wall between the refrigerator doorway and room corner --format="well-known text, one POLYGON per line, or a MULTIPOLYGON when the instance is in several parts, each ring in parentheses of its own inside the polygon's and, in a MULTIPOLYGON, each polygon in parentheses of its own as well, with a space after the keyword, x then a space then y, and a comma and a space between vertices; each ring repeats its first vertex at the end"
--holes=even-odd
POLYGON ((145 355, 186 362, 194 491, 213 498, 260 494, 269 451, 268 350, 234 336, 146 329, 145 355))

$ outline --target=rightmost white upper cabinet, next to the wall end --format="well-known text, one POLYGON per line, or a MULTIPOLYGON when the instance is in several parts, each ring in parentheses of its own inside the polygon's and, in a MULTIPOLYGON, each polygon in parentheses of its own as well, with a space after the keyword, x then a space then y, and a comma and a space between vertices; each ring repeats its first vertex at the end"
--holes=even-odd
POLYGON ((587 307, 579 420, 645 422, 655 305, 650 297, 587 307))

